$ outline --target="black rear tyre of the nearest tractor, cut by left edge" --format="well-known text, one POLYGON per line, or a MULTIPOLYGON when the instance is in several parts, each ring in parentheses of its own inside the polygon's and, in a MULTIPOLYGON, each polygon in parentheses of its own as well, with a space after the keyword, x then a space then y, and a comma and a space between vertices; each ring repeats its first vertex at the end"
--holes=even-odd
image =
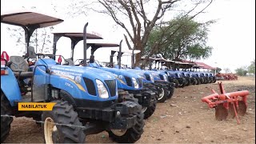
POLYGON ((11 115, 11 106, 6 95, 1 91, 1 143, 8 137, 10 133, 10 123, 14 120, 12 117, 2 115, 11 115))

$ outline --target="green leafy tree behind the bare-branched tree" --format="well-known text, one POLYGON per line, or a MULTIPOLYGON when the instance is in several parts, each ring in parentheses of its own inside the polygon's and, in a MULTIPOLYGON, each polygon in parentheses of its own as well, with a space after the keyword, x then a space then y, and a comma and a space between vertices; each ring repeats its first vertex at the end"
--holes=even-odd
POLYGON ((163 58, 174 60, 208 58, 212 47, 206 46, 207 32, 208 26, 213 22, 199 23, 186 16, 174 18, 166 26, 156 26, 150 34, 144 55, 150 53, 151 47, 158 41, 158 37, 165 33, 162 40, 167 40, 167 42, 165 45, 159 46, 155 54, 160 53, 163 58), (170 25, 172 26, 168 28, 170 25), (178 29, 178 26, 181 27, 178 29), (176 33, 174 30, 177 30, 176 33), (170 34, 173 34, 173 37, 168 39, 170 34))

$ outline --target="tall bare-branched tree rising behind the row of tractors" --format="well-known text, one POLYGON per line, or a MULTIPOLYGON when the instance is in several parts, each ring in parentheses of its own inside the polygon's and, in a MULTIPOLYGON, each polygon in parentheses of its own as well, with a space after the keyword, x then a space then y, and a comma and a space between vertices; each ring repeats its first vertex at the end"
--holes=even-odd
MULTIPOLYGON (((162 19, 164 14, 167 11, 174 10, 174 7, 177 6, 176 4, 178 4, 178 2, 181 2, 181 1, 180 0, 168 0, 168 1, 158 0, 157 3, 152 3, 152 1, 149 1, 149 0, 144 0, 144 1, 143 0, 136 0, 136 1, 98 0, 98 2, 100 2, 102 6, 104 6, 106 9, 101 12, 110 15, 110 17, 113 18, 114 22, 116 22, 119 26, 121 26, 126 31, 126 34, 128 35, 128 38, 129 38, 128 39, 126 34, 124 34, 127 46, 130 49, 141 50, 141 53, 136 54, 135 66, 138 66, 139 63, 141 62, 141 57, 142 57, 142 54, 144 53, 146 43, 150 37, 150 32, 153 30, 156 24, 161 26, 163 23, 165 23, 163 22, 163 19, 162 19), (154 10, 155 8, 154 6, 156 6, 155 10, 154 10), (154 13, 153 14, 150 13, 149 10, 150 12, 154 12, 154 13), (151 15, 153 15, 153 17, 150 18, 151 15), (129 19, 130 24, 129 22, 125 22, 126 19, 129 19), (130 42, 133 44, 133 46, 130 45, 130 42)), ((185 2, 185 1, 182 1, 182 2, 185 2)), ((190 19, 194 18, 196 15, 200 14, 203 10, 205 10, 206 7, 208 7, 211 2, 212 0, 210 0, 208 5, 205 6, 202 10, 190 16, 190 19)), ((187 16, 202 3, 205 3, 205 1, 197 1, 196 3, 194 3, 194 7, 191 10, 186 11, 184 15, 187 16)), ((180 26, 177 27, 177 29, 179 28, 180 26)), ((174 30, 174 33, 176 31, 177 30, 174 30)), ((170 39, 172 36, 173 34, 170 34, 168 39, 170 39)), ((163 36, 160 36, 159 38, 162 39, 163 36)), ((162 45, 165 45, 165 41, 160 40, 154 43, 154 46, 151 47, 150 53, 147 55, 147 58, 149 58, 152 54, 154 54, 155 51, 158 50, 162 45)), ((134 66, 133 63, 132 65, 134 66)))

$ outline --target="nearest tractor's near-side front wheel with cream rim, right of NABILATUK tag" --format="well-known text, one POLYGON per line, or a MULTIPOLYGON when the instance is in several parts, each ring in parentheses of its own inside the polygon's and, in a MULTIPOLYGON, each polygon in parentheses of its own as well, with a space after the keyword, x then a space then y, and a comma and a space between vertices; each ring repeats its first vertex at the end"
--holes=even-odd
POLYGON ((46 143, 83 143, 86 134, 82 130, 82 123, 78 120, 78 113, 66 101, 54 101, 53 110, 42 112, 44 135, 46 143), (55 125, 58 123, 60 125, 55 125))

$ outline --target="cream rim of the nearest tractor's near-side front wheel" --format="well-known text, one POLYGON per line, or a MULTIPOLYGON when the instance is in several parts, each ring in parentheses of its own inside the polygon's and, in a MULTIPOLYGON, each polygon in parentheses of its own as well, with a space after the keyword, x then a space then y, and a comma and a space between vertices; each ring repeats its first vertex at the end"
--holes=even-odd
POLYGON ((44 134, 46 143, 54 143, 53 133, 57 132, 57 126, 54 124, 54 120, 52 118, 46 118, 44 124, 44 134))

